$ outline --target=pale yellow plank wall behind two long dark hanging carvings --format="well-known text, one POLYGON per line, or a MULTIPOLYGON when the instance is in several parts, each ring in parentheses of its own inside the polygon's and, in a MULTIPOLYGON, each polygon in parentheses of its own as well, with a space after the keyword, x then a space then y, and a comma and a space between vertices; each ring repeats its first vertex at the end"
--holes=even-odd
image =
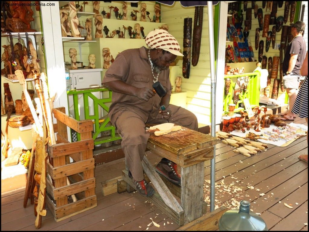
MULTIPOLYGON (((195 7, 183 7, 180 2, 175 2, 173 6, 161 4, 161 22, 168 25, 169 32, 180 44, 181 52, 183 51, 184 18, 192 18, 193 24, 194 11, 195 7)), ((188 79, 182 79, 181 89, 187 92, 187 109, 197 116, 199 123, 210 125, 211 80, 207 11, 207 6, 204 6, 199 61, 195 67, 191 64, 190 76, 188 79)), ((192 34, 193 27, 194 25, 192 25, 192 34)), ((177 57, 176 65, 179 65, 178 76, 182 77, 182 57, 177 57)))

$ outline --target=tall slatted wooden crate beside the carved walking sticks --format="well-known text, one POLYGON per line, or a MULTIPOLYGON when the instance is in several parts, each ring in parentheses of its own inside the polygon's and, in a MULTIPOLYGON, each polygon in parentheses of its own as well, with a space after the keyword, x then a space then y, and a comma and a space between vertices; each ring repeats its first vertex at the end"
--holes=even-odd
POLYGON ((95 195, 95 161, 91 120, 77 121, 65 114, 65 108, 53 109, 57 119, 57 144, 48 146, 46 170, 52 181, 46 180, 46 204, 56 222, 97 206, 95 195), (81 135, 81 141, 70 143, 67 126, 81 135), (71 158, 71 159, 70 159, 71 158), (71 161, 73 160, 73 162, 71 161), (69 180, 70 184, 67 183, 69 180), (68 201, 75 195, 77 201, 68 201))

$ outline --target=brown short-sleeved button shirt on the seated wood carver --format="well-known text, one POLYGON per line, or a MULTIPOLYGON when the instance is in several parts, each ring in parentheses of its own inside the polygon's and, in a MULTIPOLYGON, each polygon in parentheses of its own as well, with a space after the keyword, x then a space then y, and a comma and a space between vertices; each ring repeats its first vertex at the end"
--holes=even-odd
MULTIPOLYGON (((169 79, 170 70, 163 70, 159 74, 159 81, 166 89, 167 94, 171 95, 171 82, 169 79)), ((154 73, 155 77, 157 73, 154 73)), ((150 62, 146 53, 146 48, 127 49, 116 56, 115 61, 111 64, 105 73, 102 85, 109 81, 123 81, 128 85, 137 88, 148 87, 153 89, 153 80, 155 78, 151 72, 150 62)), ((112 123, 116 120, 117 112, 121 110, 130 110, 139 114, 146 122, 148 117, 162 118, 159 114, 159 103, 161 98, 158 94, 151 97, 148 102, 138 97, 127 95, 124 93, 112 93, 112 104, 109 107, 108 116, 112 123)))

